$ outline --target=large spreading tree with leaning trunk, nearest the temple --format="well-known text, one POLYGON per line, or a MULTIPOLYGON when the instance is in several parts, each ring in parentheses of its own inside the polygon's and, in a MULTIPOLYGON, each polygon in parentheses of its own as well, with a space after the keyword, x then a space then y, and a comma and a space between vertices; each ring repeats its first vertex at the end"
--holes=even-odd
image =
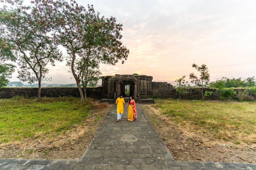
POLYGON ((129 50, 122 45, 122 24, 116 18, 100 17, 93 6, 85 8, 74 0, 66 2, 42 1, 34 2, 42 15, 55 24, 59 43, 66 48, 67 62, 79 89, 82 103, 84 95, 81 88, 81 76, 86 71, 88 60, 98 60, 104 64, 114 65, 119 60, 127 59, 129 50), (78 64, 82 61, 81 67, 78 64))

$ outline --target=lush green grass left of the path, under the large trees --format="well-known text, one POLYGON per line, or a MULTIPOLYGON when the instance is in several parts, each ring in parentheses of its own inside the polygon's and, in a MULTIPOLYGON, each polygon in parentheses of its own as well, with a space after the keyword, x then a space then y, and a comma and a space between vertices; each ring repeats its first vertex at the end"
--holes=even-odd
POLYGON ((91 99, 85 106, 80 98, 13 97, 0 99, 0 144, 3 142, 36 138, 37 134, 51 137, 62 134, 74 124, 81 124, 89 116, 91 99))

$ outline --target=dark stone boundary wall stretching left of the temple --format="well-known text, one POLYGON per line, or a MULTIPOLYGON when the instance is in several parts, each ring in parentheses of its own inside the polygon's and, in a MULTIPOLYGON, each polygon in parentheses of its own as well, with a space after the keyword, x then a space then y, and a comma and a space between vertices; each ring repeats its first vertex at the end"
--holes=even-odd
MULTIPOLYGON (((0 98, 11 98, 13 96, 37 97, 37 87, 5 87, 0 90, 0 98)), ((102 87, 87 88, 87 97, 100 99, 102 87)), ((42 87, 41 97, 73 96, 80 97, 77 87, 42 87)))

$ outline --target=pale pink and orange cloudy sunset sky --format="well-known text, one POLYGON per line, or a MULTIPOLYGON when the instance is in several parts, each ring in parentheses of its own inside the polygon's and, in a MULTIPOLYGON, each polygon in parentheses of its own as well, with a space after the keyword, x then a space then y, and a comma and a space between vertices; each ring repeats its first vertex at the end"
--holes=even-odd
MULTIPOLYGON (((29 1, 25 1, 28 4, 29 1)), ((256 1, 77 1, 93 4, 105 17, 123 23, 124 64, 101 65, 102 75, 144 74, 176 85, 176 79, 206 64, 211 81, 256 76, 256 1)), ((75 83, 66 63, 48 67, 52 81, 75 83)), ((17 71, 10 81, 18 81, 17 71)))

